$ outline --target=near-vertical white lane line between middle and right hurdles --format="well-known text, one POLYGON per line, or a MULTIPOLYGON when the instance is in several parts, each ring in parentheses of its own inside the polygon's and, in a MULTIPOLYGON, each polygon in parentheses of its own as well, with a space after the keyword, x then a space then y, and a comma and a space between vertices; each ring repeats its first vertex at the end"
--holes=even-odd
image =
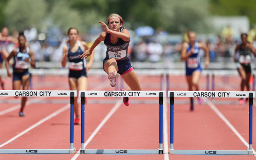
POLYGON ((167 98, 164 97, 163 105, 163 119, 164 119, 164 160, 169 160, 169 147, 168 147, 168 120, 167 120, 167 98))

